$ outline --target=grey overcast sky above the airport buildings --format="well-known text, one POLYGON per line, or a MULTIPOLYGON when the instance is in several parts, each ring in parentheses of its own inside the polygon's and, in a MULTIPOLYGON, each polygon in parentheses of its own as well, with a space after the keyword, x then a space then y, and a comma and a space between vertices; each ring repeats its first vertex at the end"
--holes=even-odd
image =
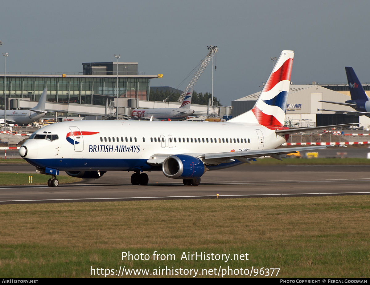
MULTIPOLYGON (((7 72, 82 72, 121 54, 164 75, 151 86, 177 87, 217 45, 214 95, 231 105, 262 89, 283 49, 295 51, 293 83, 346 82, 344 66, 369 82, 369 12, 367 0, 12 0, 1 3, 0 52, 7 72)), ((211 65, 194 90, 211 92, 211 65)))

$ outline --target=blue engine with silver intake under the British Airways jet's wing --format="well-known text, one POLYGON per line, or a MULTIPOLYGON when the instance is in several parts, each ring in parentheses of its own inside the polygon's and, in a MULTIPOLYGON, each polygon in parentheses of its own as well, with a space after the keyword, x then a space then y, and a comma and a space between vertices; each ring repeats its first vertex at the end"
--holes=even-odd
POLYGON ((169 178, 194 179, 201 177, 206 172, 206 167, 197 157, 178 154, 171 155, 164 160, 162 171, 169 178))

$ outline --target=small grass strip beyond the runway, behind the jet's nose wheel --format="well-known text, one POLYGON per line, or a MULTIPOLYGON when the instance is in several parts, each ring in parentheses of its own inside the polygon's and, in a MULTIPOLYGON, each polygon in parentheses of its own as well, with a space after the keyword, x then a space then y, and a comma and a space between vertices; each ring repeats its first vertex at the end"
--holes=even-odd
MULTIPOLYGON (((32 175, 32 185, 47 184, 50 175, 37 173, 12 173, 0 172, 0 185, 31 185, 30 176, 32 175)), ((58 175, 58 181, 61 184, 81 181, 82 178, 58 175)))

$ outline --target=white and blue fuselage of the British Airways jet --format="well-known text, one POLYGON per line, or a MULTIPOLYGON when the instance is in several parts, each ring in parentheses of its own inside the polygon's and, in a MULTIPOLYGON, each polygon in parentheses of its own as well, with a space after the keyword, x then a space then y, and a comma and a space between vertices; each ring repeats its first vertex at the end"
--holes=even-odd
POLYGON ((227 121, 72 121, 34 134, 23 144, 24 158, 40 168, 63 171, 161 170, 148 159, 273 149, 285 142, 262 125, 227 121))

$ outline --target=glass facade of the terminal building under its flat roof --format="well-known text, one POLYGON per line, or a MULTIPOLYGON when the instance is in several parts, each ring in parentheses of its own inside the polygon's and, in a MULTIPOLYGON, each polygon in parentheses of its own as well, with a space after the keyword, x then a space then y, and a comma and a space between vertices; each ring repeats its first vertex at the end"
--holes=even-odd
MULTIPOLYGON (((118 96, 148 100, 150 79, 157 75, 118 75, 118 96)), ((6 74, 6 97, 38 101, 47 88, 47 101, 105 105, 116 96, 115 75, 6 74)), ((0 107, 4 107, 4 75, 0 75, 0 107)))

